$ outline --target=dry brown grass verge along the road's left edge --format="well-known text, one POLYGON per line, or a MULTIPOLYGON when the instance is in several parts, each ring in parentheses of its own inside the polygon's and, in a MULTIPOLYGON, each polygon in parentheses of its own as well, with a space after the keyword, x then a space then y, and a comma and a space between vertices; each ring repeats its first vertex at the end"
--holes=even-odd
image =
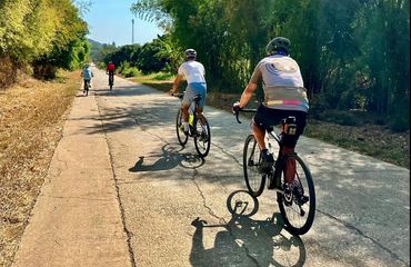
POLYGON ((61 76, 0 91, 0 266, 11 265, 80 87, 78 72, 61 76))

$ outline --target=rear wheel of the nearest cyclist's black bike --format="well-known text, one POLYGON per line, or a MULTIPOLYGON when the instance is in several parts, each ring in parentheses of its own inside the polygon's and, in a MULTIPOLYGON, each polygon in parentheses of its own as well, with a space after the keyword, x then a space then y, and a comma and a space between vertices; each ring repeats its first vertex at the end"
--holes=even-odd
MULTIPOLYGON (((295 159, 295 180, 299 181, 301 194, 305 197, 305 201, 298 200, 294 194, 277 192, 277 201, 279 204, 282 219, 285 228, 295 235, 304 235, 310 230, 314 221, 315 214, 315 189, 312 180, 311 171, 300 157, 292 156, 295 159)), ((285 167, 287 160, 281 166, 281 181, 284 181, 282 169, 285 167)), ((294 181, 295 181, 294 180, 294 181)))

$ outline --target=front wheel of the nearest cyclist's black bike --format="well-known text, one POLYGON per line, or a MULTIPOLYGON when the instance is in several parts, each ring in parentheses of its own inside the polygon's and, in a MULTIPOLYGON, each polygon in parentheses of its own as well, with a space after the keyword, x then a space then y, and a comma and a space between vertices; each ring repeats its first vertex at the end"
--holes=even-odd
POLYGON ((264 190, 265 175, 259 171, 261 152, 253 135, 247 137, 242 156, 247 188, 251 196, 259 197, 264 190))

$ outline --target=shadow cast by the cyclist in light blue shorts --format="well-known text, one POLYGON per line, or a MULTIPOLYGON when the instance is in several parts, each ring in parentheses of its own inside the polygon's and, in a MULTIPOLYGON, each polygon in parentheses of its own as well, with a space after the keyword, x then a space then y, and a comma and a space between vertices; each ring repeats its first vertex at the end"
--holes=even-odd
POLYGON ((161 155, 140 156, 136 165, 129 169, 131 172, 169 170, 181 166, 187 169, 196 169, 204 165, 204 159, 198 155, 184 152, 183 148, 174 145, 164 145, 161 155), (153 164, 144 165, 146 158, 159 158, 153 164))

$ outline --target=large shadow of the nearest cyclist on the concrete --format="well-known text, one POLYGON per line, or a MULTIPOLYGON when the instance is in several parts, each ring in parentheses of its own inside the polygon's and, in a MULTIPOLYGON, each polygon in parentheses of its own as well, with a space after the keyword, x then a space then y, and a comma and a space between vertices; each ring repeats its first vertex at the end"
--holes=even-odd
POLYGON ((227 224, 207 225, 200 218, 192 221, 196 227, 190 255, 192 266, 303 266, 305 247, 300 237, 283 231, 280 214, 265 220, 251 219, 259 202, 242 190, 232 192, 227 205, 232 215, 227 224), (210 235, 204 236, 204 230, 212 233, 219 228, 223 230, 215 234, 213 247, 206 248, 204 241, 210 241, 210 235))

